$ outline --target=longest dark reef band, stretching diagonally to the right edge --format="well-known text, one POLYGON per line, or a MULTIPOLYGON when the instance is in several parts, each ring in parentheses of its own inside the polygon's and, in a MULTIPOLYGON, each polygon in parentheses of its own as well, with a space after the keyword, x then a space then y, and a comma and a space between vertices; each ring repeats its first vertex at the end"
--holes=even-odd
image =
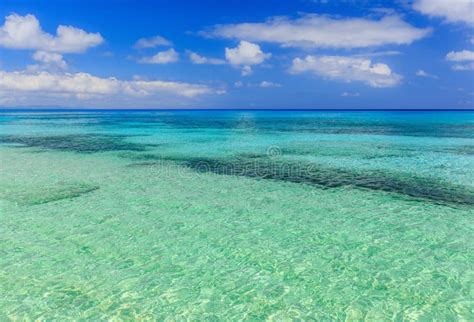
MULTIPOLYGON (((162 165, 155 155, 155 161, 142 160, 131 167, 162 165)), ((194 171, 219 175, 244 176, 255 179, 269 179, 317 186, 319 188, 354 187, 399 194, 413 199, 436 204, 474 206, 474 190, 454 185, 436 178, 413 176, 380 170, 350 171, 321 166, 314 163, 285 161, 256 155, 239 155, 231 159, 173 158, 174 161, 194 171)))

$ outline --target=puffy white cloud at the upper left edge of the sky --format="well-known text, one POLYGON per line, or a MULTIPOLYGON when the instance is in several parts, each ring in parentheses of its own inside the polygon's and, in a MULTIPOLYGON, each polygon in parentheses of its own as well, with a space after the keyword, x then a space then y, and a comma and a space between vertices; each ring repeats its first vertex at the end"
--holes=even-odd
POLYGON ((0 27, 0 46, 12 49, 81 53, 103 41, 99 33, 88 33, 72 26, 59 25, 56 35, 51 35, 41 29, 38 19, 31 14, 9 15, 0 27))

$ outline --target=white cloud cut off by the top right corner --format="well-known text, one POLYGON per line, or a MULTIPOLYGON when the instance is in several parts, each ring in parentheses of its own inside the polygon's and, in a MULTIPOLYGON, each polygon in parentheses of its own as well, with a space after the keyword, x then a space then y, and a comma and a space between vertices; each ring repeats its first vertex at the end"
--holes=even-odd
POLYGON ((473 0, 416 0, 413 8, 431 17, 441 17, 447 22, 474 25, 473 0))

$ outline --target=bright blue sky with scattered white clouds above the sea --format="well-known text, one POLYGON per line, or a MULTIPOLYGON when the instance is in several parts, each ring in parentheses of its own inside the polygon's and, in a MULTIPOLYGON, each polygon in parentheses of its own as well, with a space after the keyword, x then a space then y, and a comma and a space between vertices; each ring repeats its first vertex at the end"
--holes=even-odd
POLYGON ((474 0, 2 0, 0 106, 474 109, 474 0))

